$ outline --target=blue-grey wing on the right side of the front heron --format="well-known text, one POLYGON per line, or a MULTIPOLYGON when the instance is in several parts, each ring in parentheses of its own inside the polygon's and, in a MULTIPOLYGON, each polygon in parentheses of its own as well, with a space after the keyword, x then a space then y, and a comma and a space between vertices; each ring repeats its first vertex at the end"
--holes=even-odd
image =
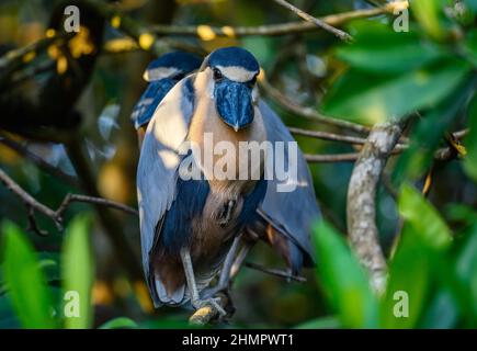
MULTIPOLYGON (((273 144, 285 141, 283 155, 285 170, 288 167, 295 167, 293 163, 296 163, 297 171, 296 174, 291 172, 291 178, 287 180, 279 180, 276 174, 273 174, 272 180, 269 180, 265 199, 258 212, 276 230, 306 252, 308 259, 313 260, 310 233, 313 224, 320 218, 320 211, 308 165, 299 148, 295 152, 296 159, 293 157, 294 152, 292 152, 292 158, 289 157, 287 141, 295 141, 295 139, 282 120, 264 101, 259 102, 259 109, 265 124, 268 139, 273 144), (293 188, 295 188, 293 191, 283 191, 293 188)), ((281 157, 281 154, 274 152, 275 163, 276 157, 281 157)))

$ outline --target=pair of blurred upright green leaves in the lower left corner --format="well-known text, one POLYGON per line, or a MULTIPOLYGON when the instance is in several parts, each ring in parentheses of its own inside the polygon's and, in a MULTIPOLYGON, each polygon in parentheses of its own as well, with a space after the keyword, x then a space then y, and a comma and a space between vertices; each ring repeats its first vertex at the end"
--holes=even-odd
MULTIPOLYGON (((92 325, 93 263, 88 216, 79 215, 68 227, 61 252, 61 274, 54 259, 41 259, 22 230, 10 222, 2 227, 3 263, 0 297, 11 303, 11 315, 24 328, 88 328, 92 325), (61 276, 61 291, 47 282, 61 276), (73 295, 71 295, 73 293, 73 295), (72 297, 71 297, 72 296, 72 297)), ((14 326, 14 325, 13 325, 14 326)))

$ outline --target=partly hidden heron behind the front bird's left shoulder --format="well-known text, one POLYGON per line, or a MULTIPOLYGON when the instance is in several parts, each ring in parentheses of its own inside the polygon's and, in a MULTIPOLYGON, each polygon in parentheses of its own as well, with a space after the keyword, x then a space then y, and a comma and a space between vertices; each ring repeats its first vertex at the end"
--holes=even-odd
POLYGON ((146 91, 133 109, 130 121, 137 131, 139 146, 143 144, 147 125, 156 107, 173 86, 202 64, 198 56, 184 52, 172 52, 149 64, 143 78, 149 82, 146 91))

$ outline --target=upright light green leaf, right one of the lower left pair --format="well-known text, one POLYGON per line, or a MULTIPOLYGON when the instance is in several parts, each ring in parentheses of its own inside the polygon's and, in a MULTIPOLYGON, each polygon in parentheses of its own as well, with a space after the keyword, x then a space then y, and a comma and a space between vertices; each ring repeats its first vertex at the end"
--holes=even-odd
POLYGON ((67 229, 61 251, 65 328, 82 329, 92 325, 91 291, 94 280, 90 247, 90 217, 78 215, 67 229))

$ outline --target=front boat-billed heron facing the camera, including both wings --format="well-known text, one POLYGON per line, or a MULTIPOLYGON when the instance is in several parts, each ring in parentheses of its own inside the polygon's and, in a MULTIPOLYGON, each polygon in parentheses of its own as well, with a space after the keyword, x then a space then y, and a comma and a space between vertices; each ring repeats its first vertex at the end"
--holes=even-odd
MULTIPOLYGON (((262 158, 257 165, 247 165, 253 168, 250 174, 260 174, 258 179, 224 181, 213 177, 218 159, 207 166, 200 158, 195 160, 194 152, 182 150, 184 141, 191 141, 198 145, 198 151, 206 151, 207 133, 215 143, 285 141, 287 149, 286 143, 294 141, 292 135, 258 100, 258 72, 259 64, 247 50, 218 49, 206 57, 196 75, 182 79, 155 107, 137 185, 143 264, 156 306, 191 301, 197 308, 205 297, 225 288, 241 233, 248 239, 269 241, 294 272, 313 263, 309 229, 320 215, 299 150, 295 179, 287 180, 296 184, 292 192, 279 192, 281 181, 264 179, 262 158), (183 180, 180 176, 181 163, 191 156, 204 180, 183 180), (207 293, 205 288, 220 270, 219 283, 207 293)), ((286 157, 284 162, 288 162, 286 157)), ((207 302, 220 308, 214 299, 207 302)))

